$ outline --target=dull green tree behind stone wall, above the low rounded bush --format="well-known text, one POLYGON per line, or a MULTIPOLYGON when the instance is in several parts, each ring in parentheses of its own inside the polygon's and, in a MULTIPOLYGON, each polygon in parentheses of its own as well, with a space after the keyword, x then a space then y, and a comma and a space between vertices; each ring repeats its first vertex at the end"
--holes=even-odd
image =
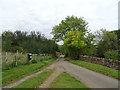
POLYGON ((117 35, 114 32, 106 31, 101 29, 101 33, 97 36, 97 56, 104 57, 104 53, 108 50, 117 50, 118 49, 118 39, 117 35))

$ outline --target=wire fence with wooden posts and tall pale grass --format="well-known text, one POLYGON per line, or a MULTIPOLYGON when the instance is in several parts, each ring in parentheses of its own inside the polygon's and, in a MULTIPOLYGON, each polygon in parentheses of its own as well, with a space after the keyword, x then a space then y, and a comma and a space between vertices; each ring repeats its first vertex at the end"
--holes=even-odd
MULTIPOLYGON (((28 64, 27 53, 3 53, 2 58, 2 70, 9 70, 13 67, 28 64)), ((37 62, 44 60, 45 58, 51 57, 49 54, 32 54, 32 60, 37 62)))

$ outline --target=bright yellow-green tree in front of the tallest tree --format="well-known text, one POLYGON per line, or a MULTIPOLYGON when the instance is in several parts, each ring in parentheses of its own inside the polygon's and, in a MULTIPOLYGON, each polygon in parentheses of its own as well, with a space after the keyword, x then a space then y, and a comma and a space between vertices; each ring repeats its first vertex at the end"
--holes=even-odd
POLYGON ((86 43, 83 38, 84 34, 78 30, 70 31, 64 39, 64 45, 68 50, 68 56, 73 59, 78 59, 86 43))

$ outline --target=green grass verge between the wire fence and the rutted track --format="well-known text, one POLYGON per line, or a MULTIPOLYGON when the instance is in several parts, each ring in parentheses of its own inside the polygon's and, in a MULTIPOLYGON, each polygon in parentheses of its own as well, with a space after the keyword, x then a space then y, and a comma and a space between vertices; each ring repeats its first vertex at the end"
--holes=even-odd
POLYGON ((18 66, 16 68, 12 68, 10 70, 6 70, 6 71, 2 72, 2 86, 6 86, 12 82, 15 82, 15 81, 27 76, 27 75, 35 73, 35 72, 41 70, 41 68, 43 66, 47 66, 47 65, 51 64, 54 60, 55 60, 55 58, 51 58, 51 59, 47 59, 44 61, 40 61, 38 63, 22 65, 22 66, 18 66))

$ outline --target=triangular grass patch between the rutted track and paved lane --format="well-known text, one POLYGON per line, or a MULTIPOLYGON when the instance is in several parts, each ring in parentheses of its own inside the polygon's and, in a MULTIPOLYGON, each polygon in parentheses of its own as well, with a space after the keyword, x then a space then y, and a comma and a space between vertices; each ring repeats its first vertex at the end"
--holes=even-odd
POLYGON ((53 81, 50 88, 87 88, 87 86, 68 73, 63 72, 53 81))

